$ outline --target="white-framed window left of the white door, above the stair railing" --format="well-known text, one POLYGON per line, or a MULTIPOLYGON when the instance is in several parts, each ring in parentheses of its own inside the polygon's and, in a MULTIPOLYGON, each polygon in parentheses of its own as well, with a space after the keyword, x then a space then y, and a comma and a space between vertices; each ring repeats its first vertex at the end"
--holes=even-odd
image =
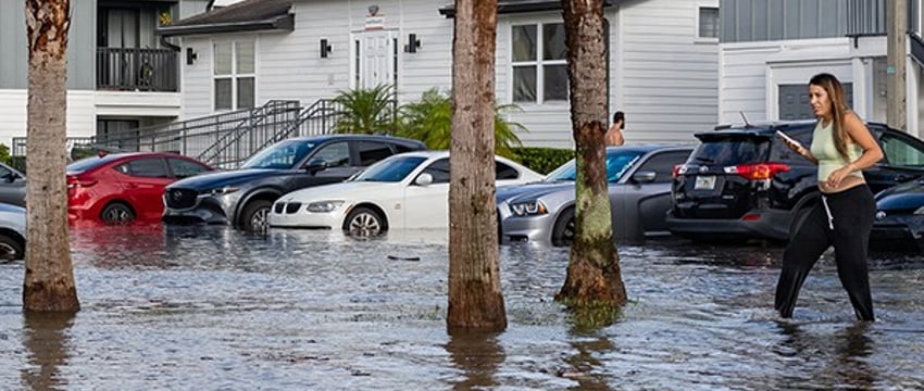
POLYGON ((215 111, 253 108, 257 60, 252 40, 213 45, 215 111))

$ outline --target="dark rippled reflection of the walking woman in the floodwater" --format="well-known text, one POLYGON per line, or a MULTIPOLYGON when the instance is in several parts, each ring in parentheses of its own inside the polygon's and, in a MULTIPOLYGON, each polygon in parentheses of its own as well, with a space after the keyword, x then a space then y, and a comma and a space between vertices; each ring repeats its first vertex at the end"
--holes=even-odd
POLYGON ((811 325, 779 323, 779 332, 785 339, 775 351, 794 364, 798 363, 801 370, 797 371, 797 376, 786 377, 778 386, 851 390, 876 388, 878 374, 866 363, 873 353, 872 339, 867 336, 871 325, 858 321, 826 335, 831 327, 838 326, 806 330, 811 325))

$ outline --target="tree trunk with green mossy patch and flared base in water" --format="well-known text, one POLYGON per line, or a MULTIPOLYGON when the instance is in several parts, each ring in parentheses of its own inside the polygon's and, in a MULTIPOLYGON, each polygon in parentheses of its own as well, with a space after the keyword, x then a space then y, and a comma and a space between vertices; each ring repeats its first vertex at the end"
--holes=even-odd
POLYGON ((575 238, 555 299, 572 305, 626 302, 607 184, 607 61, 602 0, 562 0, 575 140, 575 238))

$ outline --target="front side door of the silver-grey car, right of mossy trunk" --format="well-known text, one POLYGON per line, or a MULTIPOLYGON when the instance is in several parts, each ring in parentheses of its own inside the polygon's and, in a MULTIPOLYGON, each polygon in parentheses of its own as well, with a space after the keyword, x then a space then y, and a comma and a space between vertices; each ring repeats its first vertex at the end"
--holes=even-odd
POLYGON ((639 160, 617 184, 610 185, 613 234, 641 239, 646 232, 666 234, 674 166, 684 164, 692 149, 657 151, 639 160))

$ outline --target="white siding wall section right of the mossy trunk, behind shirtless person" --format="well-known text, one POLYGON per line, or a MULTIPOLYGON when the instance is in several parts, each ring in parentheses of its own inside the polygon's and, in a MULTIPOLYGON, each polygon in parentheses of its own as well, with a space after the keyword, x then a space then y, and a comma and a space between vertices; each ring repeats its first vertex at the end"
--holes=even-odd
POLYGON ((625 2, 612 54, 612 110, 626 113, 626 142, 695 142, 717 121, 719 45, 697 38, 699 5, 717 2, 625 2))

